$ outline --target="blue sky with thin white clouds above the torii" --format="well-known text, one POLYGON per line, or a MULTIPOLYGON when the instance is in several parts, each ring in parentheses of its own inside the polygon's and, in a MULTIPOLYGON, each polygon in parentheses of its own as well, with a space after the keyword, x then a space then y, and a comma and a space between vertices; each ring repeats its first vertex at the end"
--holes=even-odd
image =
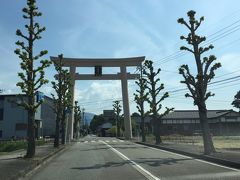
MULTIPOLYGON (((19 92, 16 83, 20 61, 14 54, 14 43, 18 40, 16 29, 23 29, 26 23, 21 12, 24 5, 23 0, 0 3, 0 88, 5 89, 4 93, 19 92)), ((38 6, 43 16, 37 20, 47 30, 37 42, 35 51, 47 49, 49 54, 45 58, 60 53, 65 57, 79 58, 146 56, 146 59, 154 61, 156 68, 161 67, 161 81, 167 90, 184 88, 179 83, 182 77, 177 69, 187 63, 194 72, 195 64, 190 54, 178 53, 184 43, 179 36, 188 32, 177 23, 177 19, 186 18, 187 11, 195 10, 197 17, 205 17, 199 34, 212 38, 215 49, 211 54, 216 55, 223 66, 217 71, 215 80, 222 80, 240 74, 239 5, 238 0, 42 0, 38 1, 38 6), (225 29, 219 32, 222 28, 225 29), (177 56, 163 59, 173 53, 177 56), (167 62, 162 63, 165 60, 167 62)), ((46 71, 51 81, 54 68, 46 71)), ((91 72, 92 69, 78 71, 91 72)), ((104 70, 113 71, 118 70, 104 70)), ((134 69, 129 71, 134 72, 134 69)), ((239 80, 212 85, 210 89, 216 96, 207 102, 208 109, 232 108, 231 101, 239 90, 237 83, 239 80)), ((135 88, 134 81, 129 81, 131 112, 136 111, 132 101, 135 88)), ((42 91, 49 95, 51 84, 44 86, 42 91)), ((196 109, 184 94, 181 91, 173 93, 163 105, 175 109, 196 109)), ((112 101, 119 98, 119 81, 76 82, 76 99, 88 112, 101 113, 103 109, 111 109, 112 101)))

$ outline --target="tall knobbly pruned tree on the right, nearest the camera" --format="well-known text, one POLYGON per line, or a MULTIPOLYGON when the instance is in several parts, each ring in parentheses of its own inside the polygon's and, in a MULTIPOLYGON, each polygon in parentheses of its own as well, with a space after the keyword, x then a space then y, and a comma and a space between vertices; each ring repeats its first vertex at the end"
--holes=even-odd
POLYGON ((208 46, 201 45, 201 43, 206 41, 206 37, 197 35, 197 30, 204 21, 204 17, 197 20, 195 19, 195 14, 195 11, 189 11, 187 13, 189 23, 183 18, 178 19, 178 23, 183 24, 189 30, 189 34, 186 37, 181 36, 180 39, 187 41, 190 47, 182 46, 180 50, 185 50, 193 54, 197 66, 197 74, 194 76, 187 64, 179 68, 179 73, 184 78, 181 83, 186 84, 190 91, 185 96, 193 98, 194 105, 198 107, 203 133, 204 153, 210 154, 215 152, 215 148, 208 125, 206 100, 210 96, 214 96, 214 94, 210 91, 207 92, 207 87, 208 83, 214 78, 215 71, 221 67, 221 64, 215 63, 216 57, 214 55, 202 57, 205 52, 214 47, 212 44, 208 46))

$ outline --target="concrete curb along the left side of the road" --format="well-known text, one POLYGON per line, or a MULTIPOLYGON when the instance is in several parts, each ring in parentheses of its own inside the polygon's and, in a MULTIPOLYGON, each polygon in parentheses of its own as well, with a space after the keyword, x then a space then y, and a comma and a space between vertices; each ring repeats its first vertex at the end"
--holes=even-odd
MULTIPOLYGON (((75 144, 75 143, 73 143, 75 144)), ((13 177, 13 180, 23 180, 24 178, 27 178, 34 174, 39 168, 41 168, 44 164, 51 161, 56 156, 60 155, 60 153, 63 153, 68 148, 70 148, 73 144, 65 145, 60 147, 59 149, 49 153, 47 156, 43 157, 42 159, 34 162, 30 167, 24 169, 23 171, 20 171, 15 177, 13 177)))

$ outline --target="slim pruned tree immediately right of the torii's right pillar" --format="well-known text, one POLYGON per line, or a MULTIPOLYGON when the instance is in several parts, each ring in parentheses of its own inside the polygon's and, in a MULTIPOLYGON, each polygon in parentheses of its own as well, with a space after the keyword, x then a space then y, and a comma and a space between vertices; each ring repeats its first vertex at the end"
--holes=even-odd
POLYGON ((145 135, 145 122, 144 119, 148 115, 148 112, 145 112, 144 110, 144 103, 147 101, 148 92, 147 90, 147 81, 143 78, 143 67, 140 67, 140 78, 135 81, 135 83, 138 86, 138 89, 136 90, 136 93, 134 93, 134 101, 137 104, 138 112, 140 113, 141 118, 141 135, 142 135, 142 142, 146 141, 146 135, 145 135))

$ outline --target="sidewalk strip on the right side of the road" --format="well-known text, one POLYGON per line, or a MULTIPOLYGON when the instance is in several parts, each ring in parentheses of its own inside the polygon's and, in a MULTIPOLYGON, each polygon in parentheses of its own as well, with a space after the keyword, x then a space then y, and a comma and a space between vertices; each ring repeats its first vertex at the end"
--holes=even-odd
POLYGON ((138 141, 134 142, 240 169, 240 151, 217 149, 216 153, 204 155, 204 149, 202 146, 192 144, 164 142, 160 145, 155 145, 138 141))

